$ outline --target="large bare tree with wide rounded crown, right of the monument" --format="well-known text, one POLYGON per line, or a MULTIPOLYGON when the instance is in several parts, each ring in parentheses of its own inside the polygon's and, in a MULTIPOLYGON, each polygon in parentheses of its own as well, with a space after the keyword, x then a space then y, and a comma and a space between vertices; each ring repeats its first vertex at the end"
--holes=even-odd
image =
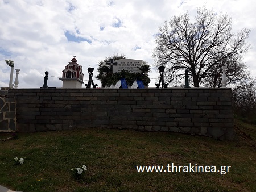
POLYGON ((203 7, 197 9, 193 23, 185 13, 159 27, 153 57, 156 66, 166 66, 166 82, 172 82, 188 69, 197 87, 216 75, 214 70, 242 57, 250 48, 246 44, 249 33, 250 30, 242 29, 234 34, 228 15, 215 14, 203 7))

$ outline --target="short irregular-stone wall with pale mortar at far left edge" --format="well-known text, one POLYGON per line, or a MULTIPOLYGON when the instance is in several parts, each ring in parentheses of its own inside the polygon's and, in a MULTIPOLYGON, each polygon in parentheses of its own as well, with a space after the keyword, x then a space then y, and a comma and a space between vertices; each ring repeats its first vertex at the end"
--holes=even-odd
POLYGON ((16 99, 0 95, 0 132, 16 131, 16 99))

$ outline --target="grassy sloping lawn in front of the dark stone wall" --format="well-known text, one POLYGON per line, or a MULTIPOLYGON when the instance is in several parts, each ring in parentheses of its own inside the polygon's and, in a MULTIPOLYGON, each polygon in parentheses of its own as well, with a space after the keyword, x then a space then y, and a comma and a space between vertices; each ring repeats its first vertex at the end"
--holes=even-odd
POLYGON ((256 126, 236 126, 236 141, 90 128, 19 133, 3 142, 10 133, 0 133, 0 185, 24 192, 256 191, 256 126), (15 157, 24 163, 15 165, 15 157), (226 174, 170 173, 166 165, 172 163, 231 167, 226 174), (76 180, 71 169, 82 165, 88 170, 76 180), (166 172, 138 173, 136 165, 163 165, 166 172))

